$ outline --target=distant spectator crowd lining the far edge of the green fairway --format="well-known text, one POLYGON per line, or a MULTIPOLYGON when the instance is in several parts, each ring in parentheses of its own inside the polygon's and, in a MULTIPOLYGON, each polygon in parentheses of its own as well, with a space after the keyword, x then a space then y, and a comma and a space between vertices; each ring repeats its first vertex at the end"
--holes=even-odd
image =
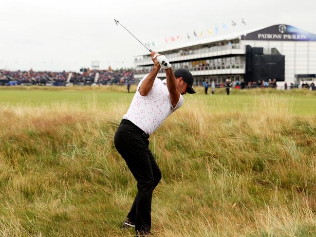
MULTIPOLYGON (((30 71, 7 71, 0 70, 0 86, 4 85, 66 85, 66 83, 71 83, 73 85, 128 85, 135 84, 136 79, 134 74, 137 71, 134 69, 119 69, 112 70, 90 70, 86 68, 80 69, 80 73, 75 72, 34 72, 30 71), (68 77, 69 81, 67 81, 68 77), (97 78, 96 78, 97 77, 97 78), (95 79, 97 81, 95 82, 95 79)), ((227 82, 229 83, 230 88, 235 89, 252 89, 252 88, 277 88, 277 80, 258 80, 258 81, 249 81, 247 83, 244 80, 231 81, 229 78, 225 82, 220 84, 212 85, 212 88, 226 87, 227 82)), ((214 84, 211 80, 205 80, 203 86, 205 88, 205 93, 207 93, 208 86, 214 84)), ((302 81, 301 84, 298 83, 289 83, 284 82, 282 89, 289 90, 295 88, 307 88, 312 91, 316 90, 314 82, 308 84, 307 82, 302 81)), ((212 89, 213 90, 213 89, 212 89)))

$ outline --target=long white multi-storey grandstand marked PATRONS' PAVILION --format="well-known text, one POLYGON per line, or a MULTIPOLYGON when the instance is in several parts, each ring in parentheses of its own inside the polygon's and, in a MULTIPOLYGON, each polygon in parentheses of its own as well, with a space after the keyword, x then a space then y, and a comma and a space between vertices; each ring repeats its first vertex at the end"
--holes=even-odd
MULTIPOLYGON (((187 68, 194 75, 195 85, 201 85, 205 79, 220 84, 230 78, 247 84, 316 78, 316 35, 284 24, 214 36, 159 52, 167 56, 175 70, 187 68)), ((136 56, 134 64, 138 80, 152 68, 148 54, 136 56)), ((158 77, 165 77, 163 70, 158 77)))

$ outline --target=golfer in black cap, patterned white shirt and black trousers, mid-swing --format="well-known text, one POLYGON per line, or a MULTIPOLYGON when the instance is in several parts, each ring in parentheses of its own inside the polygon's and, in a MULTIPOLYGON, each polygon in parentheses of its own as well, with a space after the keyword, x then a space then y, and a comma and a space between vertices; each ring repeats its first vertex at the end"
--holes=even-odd
POLYGON ((117 151, 125 160, 137 181, 137 194, 123 227, 135 227, 136 235, 150 234, 151 198, 161 180, 161 171, 149 149, 149 135, 153 133, 183 103, 183 94, 193 94, 193 76, 186 69, 174 73, 166 56, 151 53, 153 69, 138 84, 127 113, 114 136, 117 151), (166 71, 165 80, 157 77, 166 71))

